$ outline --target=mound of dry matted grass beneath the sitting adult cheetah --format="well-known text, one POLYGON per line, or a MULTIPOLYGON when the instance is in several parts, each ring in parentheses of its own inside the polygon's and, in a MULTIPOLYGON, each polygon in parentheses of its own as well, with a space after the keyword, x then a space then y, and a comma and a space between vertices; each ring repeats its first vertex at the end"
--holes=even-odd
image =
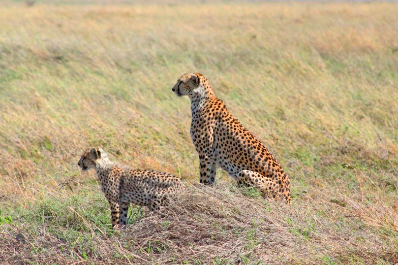
POLYGON ((262 198, 248 197, 242 191, 257 196, 250 188, 240 190, 227 184, 193 187, 189 196, 175 196, 168 208, 131 225, 126 237, 134 238, 159 261, 227 264, 260 260, 275 252, 270 246, 285 245, 288 235, 274 217, 286 211, 286 206, 274 204, 270 214, 271 206, 262 198))

